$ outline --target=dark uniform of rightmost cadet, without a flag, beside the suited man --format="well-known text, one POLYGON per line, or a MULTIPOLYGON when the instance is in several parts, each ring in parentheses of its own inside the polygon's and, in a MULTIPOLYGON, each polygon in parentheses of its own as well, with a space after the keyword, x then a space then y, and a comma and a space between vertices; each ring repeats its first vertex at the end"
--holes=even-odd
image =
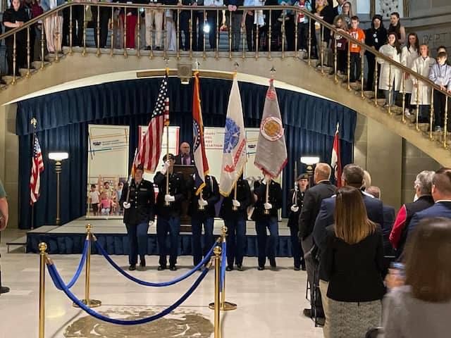
POLYGON ((304 194, 299 189, 291 189, 288 196, 288 227, 290 228, 291 247, 293 251, 293 259, 295 268, 305 270, 304 251, 302 251, 299 243, 299 215, 301 213, 302 204, 304 204, 304 194), (297 211, 292 211, 291 207, 297 206, 297 211))

